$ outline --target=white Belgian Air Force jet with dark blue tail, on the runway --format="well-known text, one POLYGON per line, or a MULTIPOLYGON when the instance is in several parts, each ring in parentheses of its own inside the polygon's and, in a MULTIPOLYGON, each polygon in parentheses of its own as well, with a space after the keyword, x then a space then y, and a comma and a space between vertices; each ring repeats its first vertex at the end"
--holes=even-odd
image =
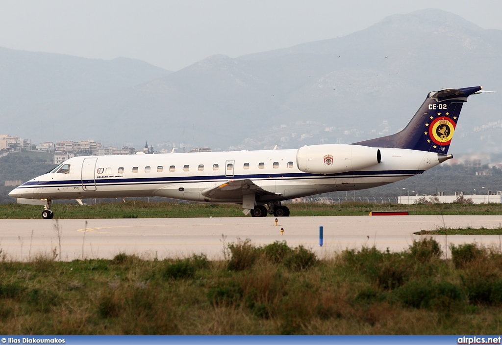
POLYGON ((447 152, 462 103, 490 92, 481 89, 430 92, 404 130, 383 138, 298 150, 74 157, 9 195, 45 204, 44 219, 54 216, 51 200, 136 196, 236 203, 254 217, 288 216, 284 200, 378 187, 452 158, 447 152))

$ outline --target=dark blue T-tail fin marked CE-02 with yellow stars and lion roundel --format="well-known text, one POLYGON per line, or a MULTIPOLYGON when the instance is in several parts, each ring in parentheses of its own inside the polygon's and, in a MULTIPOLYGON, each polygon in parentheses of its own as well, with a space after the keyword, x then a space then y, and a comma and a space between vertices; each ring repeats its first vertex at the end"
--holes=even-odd
POLYGON ((443 88, 429 92, 408 126, 399 133, 355 143, 369 147, 392 147, 446 154, 455 133, 462 103, 482 86, 461 89, 443 88))

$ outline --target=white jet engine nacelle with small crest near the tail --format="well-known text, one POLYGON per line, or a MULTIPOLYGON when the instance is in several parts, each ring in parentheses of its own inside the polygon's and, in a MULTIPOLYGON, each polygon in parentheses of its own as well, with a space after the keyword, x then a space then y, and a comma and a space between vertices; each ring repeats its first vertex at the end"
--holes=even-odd
POLYGON ((381 161, 379 149, 360 145, 310 145, 298 149, 298 169, 312 174, 335 174, 369 168, 381 161))

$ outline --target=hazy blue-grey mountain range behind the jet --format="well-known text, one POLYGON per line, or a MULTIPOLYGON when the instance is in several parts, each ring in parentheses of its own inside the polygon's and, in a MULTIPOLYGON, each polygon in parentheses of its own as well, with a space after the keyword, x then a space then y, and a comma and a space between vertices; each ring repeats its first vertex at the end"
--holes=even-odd
MULTIPOLYGON (((329 40, 176 72, 0 48, 2 132, 214 150, 352 143, 404 128, 429 91, 502 90, 502 31, 454 14, 393 15, 329 40)), ((450 152, 500 152, 500 93, 464 105, 450 152)))

